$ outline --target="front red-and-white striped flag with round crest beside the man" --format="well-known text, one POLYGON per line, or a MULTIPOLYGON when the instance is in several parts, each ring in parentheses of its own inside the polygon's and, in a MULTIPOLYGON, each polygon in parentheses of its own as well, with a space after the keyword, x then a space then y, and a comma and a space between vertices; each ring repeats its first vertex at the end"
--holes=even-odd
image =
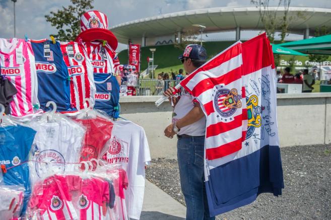
POLYGON ((241 149, 247 119, 243 107, 241 43, 237 42, 193 71, 180 85, 201 103, 207 116, 206 159, 241 149))

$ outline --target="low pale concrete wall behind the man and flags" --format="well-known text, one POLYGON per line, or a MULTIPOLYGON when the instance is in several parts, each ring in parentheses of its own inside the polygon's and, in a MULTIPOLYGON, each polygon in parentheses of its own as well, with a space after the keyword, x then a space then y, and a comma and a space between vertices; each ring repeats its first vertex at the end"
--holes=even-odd
MULTIPOLYGON (((145 128, 153 158, 176 158, 176 141, 164 136, 172 107, 160 96, 121 97, 121 117, 145 128)), ((280 146, 331 143, 331 93, 277 94, 280 146)))

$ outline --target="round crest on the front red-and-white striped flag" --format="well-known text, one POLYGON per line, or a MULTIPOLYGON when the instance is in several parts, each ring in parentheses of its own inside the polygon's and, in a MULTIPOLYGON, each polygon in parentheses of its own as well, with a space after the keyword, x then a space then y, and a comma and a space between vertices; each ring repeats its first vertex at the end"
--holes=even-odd
POLYGON ((216 92, 214 107, 221 116, 229 117, 241 106, 241 95, 238 95, 237 89, 220 89, 216 92))

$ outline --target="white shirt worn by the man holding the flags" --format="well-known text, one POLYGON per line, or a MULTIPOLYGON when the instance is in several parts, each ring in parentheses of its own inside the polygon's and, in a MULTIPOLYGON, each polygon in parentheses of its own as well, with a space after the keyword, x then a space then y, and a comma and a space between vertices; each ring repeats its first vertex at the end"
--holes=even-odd
MULTIPOLYGON (((191 96, 186 90, 182 88, 180 99, 178 100, 172 113, 172 123, 175 123, 179 119, 183 118, 190 110, 192 110, 194 107, 194 102, 196 102, 197 105, 200 105, 197 103, 197 101, 194 101, 193 96, 191 96)), ((180 128, 178 135, 187 134, 191 136, 203 136, 205 135, 205 131, 206 116, 192 124, 180 128)))

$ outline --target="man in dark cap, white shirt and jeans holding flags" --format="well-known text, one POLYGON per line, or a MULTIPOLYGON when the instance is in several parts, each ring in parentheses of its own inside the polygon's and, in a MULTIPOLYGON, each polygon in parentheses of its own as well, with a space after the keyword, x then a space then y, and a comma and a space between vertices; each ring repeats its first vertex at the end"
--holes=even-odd
MULTIPOLYGON (((190 44, 178 58, 189 75, 206 62, 207 52, 201 45, 190 44)), ((177 158, 180 185, 186 202, 186 219, 215 219, 209 214, 204 183, 206 116, 200 104, 187 91, 182 89, 178 98, 173 93, 173 88, 164 93, 174 106, 172 123, 164 133, 170 138, 176 134, 178 137, 177 158)))

